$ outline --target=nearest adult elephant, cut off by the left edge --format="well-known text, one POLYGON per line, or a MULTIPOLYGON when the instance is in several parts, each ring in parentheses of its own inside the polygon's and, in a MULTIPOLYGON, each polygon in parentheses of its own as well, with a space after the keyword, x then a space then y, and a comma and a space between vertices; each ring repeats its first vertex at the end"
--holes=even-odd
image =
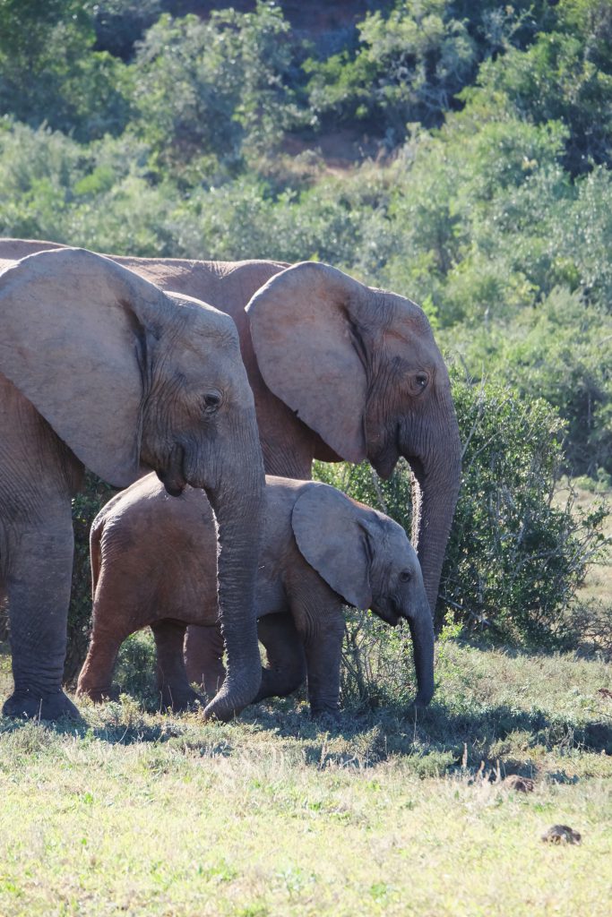
POLYGON ((84 465, 118 487, 153 469, 171 494, 206 490, 229 659, 207 713, 228 718, 261 680, 253 594, 264 484, 234 323, 83 249, 5 265, 0 316, 0 593, 15 679, 4 713, 77 713, 61 673, 71 497, 84 465))

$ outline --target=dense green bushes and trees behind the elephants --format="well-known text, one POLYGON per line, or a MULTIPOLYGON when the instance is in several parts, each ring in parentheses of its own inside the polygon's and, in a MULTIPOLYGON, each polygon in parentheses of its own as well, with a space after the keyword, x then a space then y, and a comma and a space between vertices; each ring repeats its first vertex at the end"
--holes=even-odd
MULTIPOLYGON (((321 31, 323 4, 299 29, 295 5, 222 6, 0 0, 0 233, 134 255, 327 260, 417 300, 476 385, 458 389, 464 433, 477 405, 489 412, 445 601, 506 634, 554 631, 583 530, 551 507, 552 468, 612 474, 612 7, 386 0, 321 31), (321 152, 331 141, 339 165, 321 152), (562 452, 541 452, 520 425, 529 417, 549 444, 559 429, 562 452), (490 466, 492 443, 505 458, 490 466), (528 555, 509 575, 528 550, 523 536, 516 546, 526 518, 532 540, 561 551, 546 582, 529 580, 528 555)), ((406 490, 406 478, 384 487, 406 490)), ((81 553, 98 497, 75 506, 81 553)))

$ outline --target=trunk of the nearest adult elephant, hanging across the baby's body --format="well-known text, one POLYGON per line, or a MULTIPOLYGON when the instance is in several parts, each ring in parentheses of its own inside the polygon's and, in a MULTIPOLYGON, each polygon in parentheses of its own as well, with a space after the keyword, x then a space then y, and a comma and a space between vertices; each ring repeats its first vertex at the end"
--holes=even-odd
POLYGON ((219 720, 239 713, 261 684, 254 596, 264 477, 254 419, 252 427, 241 453, 247 462, 231 471, 226 465, 217 489, 206 491, 217 516, 219 621, 228 664, 226 678, 206 706, 205 716, 219 720))

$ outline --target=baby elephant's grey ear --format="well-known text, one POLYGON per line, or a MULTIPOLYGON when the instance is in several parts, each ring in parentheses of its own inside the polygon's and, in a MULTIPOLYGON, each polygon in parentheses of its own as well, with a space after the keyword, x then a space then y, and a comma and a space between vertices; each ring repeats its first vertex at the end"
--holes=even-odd
POLYGON ((350 605, 369 608, 370 553, 362 511, 328 484, 306 484, 295 501, 291 525, 302 556, 350 605))

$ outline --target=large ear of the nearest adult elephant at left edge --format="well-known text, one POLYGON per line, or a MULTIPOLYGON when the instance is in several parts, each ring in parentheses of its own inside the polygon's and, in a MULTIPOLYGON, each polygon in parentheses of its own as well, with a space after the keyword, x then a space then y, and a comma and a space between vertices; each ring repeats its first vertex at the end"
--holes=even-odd
POLYGON ((0 372, 87 468, 139 474, 147 341, 165 297, 83 249, 30 255, 0 274, 0 372))

